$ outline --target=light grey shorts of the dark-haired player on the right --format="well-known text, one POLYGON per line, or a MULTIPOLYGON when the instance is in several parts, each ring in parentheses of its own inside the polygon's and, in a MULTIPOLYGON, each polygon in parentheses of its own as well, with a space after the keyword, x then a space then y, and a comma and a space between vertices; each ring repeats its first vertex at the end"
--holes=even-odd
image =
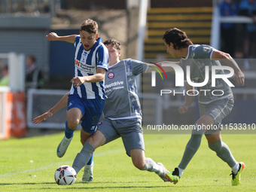
MULTIPOLYGON (((200 117, 203 116, 203 114, 209 114, 215 121, 215 127, 218 127, 217 130, 221 130, 221 121, 227 116, 227 114, 230 114, 233 104, 233 96, 229 96, 225 99, 218 99, 214 102, 210 102, 209 104, 199 103, 200 117)), ((205 134, 211 135, 217 130, 206 130, 205 134)))

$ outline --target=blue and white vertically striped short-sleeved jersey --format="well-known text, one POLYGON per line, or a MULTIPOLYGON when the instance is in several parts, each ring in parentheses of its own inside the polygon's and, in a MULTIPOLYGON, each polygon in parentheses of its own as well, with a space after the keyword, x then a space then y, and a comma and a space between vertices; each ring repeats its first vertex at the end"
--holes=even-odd
MULTIPOLYGON (((84 50, 80 35, 75 38, 75 72, 74 77, 90 76, 101 67, 108 71, 108 49, 98 38, 90 50, 84 50)), ((96 83, 85 82, 79 87, 72 85, 69 94, 78 94, 82 99, 105 99, 104 81, 96 83)))

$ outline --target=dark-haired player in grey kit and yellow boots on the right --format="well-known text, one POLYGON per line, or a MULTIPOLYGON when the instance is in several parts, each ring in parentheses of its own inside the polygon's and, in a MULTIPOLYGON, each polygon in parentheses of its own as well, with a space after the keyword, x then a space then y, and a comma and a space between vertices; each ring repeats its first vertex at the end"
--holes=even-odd
MULTIPOLYGON (((206 67, 209 67, 209 71, 212 70, 213 66, 220 67, 221 63, 218 60, 222 59, 227 66, 234 70, 236 83, 244 85, 245 76, 228 53, 215 50, 208 45, 193 44, 187 38, 186 33, 177 28, 167 30, 163 35, 163 41, 166 45, 167 53, 171 54, 172 57, 181 58, 180 66, 184 71, 184 77, 187 77, 186 68, 190 66, 190 84, 192 84, 192 81, 196 83, 204 82, 206 79, 206 67)), ((224 75, 223 70, 218 70, 217 73, 218 75, 224 75)), ((194 87, 190 84, 185 81, 186 90, 194 90, 194 87)), ((240 183, 240 175, 245 164, 237 162, 231 154, 230 148, 222 142, 221 129, 200 129, 200 126, 214 125, 217 128, 220 127, 221 120, 233 108, 233 93, 227 83, 222 78, 217 78, 215 85, 215 87, 212 86, 210 73, 209 81, 203 87, 197 87, 200 119, 195 123, 196 129, 192 131, 190 140, 187 142, 181 163, 173 172, 166 173, 166 177, 170 178, 174 184, 178 183, 184 169, 196 154, 203 134, 206 136, 209 148, 215 151, 217 156, 232 169, 232 185, 240 183)), ((193 101, 194 96, 185 95, 184 105, 180 106, 178 111, 181 114, 185 113, 193 101)))

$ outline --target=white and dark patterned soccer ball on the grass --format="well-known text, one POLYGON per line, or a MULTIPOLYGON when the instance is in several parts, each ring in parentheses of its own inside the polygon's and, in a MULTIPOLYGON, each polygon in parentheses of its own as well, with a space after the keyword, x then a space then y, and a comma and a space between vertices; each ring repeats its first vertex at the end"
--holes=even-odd
POLYGON ((56 169, 54 178, 57 184, 70 185, 75 183, 77 173, 72 166, 59 166, 59 168, 56 169))

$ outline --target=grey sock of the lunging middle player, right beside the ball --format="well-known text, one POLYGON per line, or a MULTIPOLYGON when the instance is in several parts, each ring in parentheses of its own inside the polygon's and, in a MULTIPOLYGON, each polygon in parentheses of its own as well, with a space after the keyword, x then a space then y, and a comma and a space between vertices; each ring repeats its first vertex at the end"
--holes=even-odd
POLYGON ((93 147, 93 145, 90 145, 89 142, 84 143, 84 147, 82 148, 80 153, 77 154, 72 165, 72 167, 75 169, 77 174, 85 166, 85 164, 90 160, 90 155, 94 151, 95 151, 95 148, 93 147))

